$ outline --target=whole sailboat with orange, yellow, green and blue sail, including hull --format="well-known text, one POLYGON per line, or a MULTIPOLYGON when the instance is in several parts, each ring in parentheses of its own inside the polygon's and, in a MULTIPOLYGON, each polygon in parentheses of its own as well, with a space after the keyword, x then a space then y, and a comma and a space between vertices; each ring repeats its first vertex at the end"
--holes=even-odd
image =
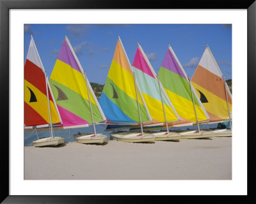
POLYGON ((112 138, 154 143, 154 136, 143 132, 143 125, 152 123, 152 119, 119 36, 99 103, 109 125, 140 125, 140 132, 114 130, 112 138))

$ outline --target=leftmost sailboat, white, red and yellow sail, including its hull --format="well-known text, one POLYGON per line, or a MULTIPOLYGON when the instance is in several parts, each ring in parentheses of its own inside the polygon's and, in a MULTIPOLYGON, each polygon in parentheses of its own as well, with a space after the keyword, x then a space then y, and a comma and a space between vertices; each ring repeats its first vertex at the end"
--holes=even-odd
POLYGON ((34 146, 57 146, 62 137, 53 136, 52 123, 61 123, 44 66, 31 36, 24 65, 24 129, 49 127, 50 137, 33 141, 34 146))

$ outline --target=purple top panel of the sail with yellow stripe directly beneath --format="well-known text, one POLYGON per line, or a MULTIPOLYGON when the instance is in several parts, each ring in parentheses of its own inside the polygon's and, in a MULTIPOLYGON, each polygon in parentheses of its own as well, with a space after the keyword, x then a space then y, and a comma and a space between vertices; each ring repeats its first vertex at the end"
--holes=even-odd
POLYGON ((58 59, 60 61, 63 61, 64 63, 70 65, 72 68, 74 68, 75 70, 80 72, 80 69, 77 65, 76 59, 74 58, 72 52, 70 51, 66 40, 64 40, 64 42, 62 44, 58 59))

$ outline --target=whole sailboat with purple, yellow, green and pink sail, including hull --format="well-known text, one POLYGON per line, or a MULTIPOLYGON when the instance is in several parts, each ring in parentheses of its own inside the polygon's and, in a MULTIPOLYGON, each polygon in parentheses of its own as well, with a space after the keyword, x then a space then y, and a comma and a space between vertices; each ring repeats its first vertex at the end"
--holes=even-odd
POLYGON ((93 126, 93 134, 77 134, 77 143, 104 143, 107 136, 97 133, 95 124, 106 117, 67 36, 49 79, 60 112, 63 129, 93 126))

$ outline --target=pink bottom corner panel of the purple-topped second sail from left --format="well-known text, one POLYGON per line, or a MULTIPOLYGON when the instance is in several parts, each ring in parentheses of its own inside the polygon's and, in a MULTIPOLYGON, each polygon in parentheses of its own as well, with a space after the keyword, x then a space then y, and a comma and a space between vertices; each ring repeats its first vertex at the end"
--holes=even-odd
POLYGON ((67 109, 65 109, 61 106, 58 106, 58 110, 61 115, 63 127, 89 124, 89 122, 87 122, 86 120, 83 120, 83 118, 80 118, 76 114, 71 113, 70 111, 68 111, 67 109))

